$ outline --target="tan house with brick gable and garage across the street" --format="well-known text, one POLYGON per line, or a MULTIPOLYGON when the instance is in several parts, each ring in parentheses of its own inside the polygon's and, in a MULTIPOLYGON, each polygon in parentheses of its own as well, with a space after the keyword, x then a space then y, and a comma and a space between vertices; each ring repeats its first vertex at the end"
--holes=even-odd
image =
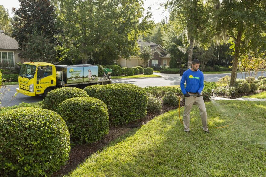
MULTIPOLYGON (((140 49, 145 46, 150 46, 151 50, 153 52, 154 57, 151 59, 151 61, 148 63, 148 66, 169 66, 170 63, 170 54, 167 54, 163 47, 160 44, 155 44, 152 42, 144 42, 143 40, 137 40, 138 46, 140 49)), ((144 66, 144 63, 139 59, 138 56, 131 56, 129 60, 126 60, 122 57, 119 58, 118 64, 120 64, 122 67, 134 67, 138 65, 144 66)))

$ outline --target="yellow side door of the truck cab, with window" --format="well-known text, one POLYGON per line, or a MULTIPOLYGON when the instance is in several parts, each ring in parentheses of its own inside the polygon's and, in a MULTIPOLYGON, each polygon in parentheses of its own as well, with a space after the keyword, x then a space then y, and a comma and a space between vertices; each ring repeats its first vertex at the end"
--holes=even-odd
POLYGON ((52 66, 39 66, 37 71, 37 83, 36 83, 36 94, 43 94, 47 87, 56 85, 53 77, 53 67, 52 66), (43 70, 43 77, 40 78, 40 69, 43 70))

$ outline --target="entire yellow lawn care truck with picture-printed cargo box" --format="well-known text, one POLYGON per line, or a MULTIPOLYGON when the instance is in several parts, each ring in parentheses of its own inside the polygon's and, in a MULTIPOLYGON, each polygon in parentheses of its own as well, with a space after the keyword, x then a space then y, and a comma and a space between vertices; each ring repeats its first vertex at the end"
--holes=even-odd
MULTIPOLYGON (((110 74, 110 73, 109 73, 110 74)), ((28 96, 43 96, 55 88, 111 84, 111 75, 98 77, 98 66, 54 65, 46 62, 25 62, 18 76, 17 92, 28 96)))

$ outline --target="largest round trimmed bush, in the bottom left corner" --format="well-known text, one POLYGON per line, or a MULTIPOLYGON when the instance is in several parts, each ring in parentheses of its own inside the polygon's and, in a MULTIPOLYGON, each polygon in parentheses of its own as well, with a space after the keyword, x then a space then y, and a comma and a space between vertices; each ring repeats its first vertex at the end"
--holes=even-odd
POLYGON ((40 108, 18 108, 0 115, 0 174, 50 176, 70 152, 62 117, 40 108))

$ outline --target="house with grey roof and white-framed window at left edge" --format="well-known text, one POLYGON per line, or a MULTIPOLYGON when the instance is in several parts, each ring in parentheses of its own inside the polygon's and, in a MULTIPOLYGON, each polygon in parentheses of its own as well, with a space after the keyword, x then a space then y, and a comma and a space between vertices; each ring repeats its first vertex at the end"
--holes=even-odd
POLYGON ((14 68, 16 62, 21 62, 18 53, 18 42, 0 30, 0 68, 14 68))

